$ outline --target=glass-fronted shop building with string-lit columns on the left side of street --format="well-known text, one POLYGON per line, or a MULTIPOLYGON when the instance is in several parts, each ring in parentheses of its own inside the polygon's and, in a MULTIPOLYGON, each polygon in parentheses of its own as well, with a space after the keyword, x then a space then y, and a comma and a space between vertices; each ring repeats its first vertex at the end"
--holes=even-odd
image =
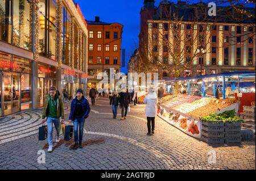
POLYGON ((88 30, 78 5, 72 0, 0 5, 0 116, 43 107, 51 86, 61 97, 64 91, 86 90, 88 30))

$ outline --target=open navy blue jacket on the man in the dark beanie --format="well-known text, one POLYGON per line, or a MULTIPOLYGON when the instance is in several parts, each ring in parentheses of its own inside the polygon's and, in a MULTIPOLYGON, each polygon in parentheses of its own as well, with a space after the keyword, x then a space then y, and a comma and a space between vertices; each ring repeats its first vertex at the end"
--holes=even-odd
MULTIPOLYGON (((75 99, 72 100, 71 102, 71 109, 70 109, 70 114, 69 114, 69 120, 74 120, 74 113, 76 110, 76 104, 77 104, 77 96, 75 99)), ((90 112, 90 105, 87 99, 84 98, 84 96, 82 96, 82 110, 84 111, 84 116, 82 116, 82 118, 86 119, 89 116, 89 112, 90 112)))

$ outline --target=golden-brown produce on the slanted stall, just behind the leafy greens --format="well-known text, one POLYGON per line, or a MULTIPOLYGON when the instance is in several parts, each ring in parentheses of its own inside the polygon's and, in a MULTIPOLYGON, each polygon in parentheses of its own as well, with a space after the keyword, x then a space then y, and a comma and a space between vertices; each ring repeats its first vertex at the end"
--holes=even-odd
POLYGON ((210 115, 210 113, 220 111, 223 108, 228 107, 231 104, 236 103, 236 102, 237 102, 236 99, 226 99, 226 100, 212 99, 205 106, 199 107, 191 112, 188 112, 187 115, 200 119, 200 117, 208 116, 208 115, 210 115))

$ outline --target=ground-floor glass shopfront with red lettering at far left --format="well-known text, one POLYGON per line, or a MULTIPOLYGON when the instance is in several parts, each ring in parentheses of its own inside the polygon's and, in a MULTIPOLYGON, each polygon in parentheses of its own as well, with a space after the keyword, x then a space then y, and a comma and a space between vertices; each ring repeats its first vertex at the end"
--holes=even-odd
POLYGON ((30 109, 31 61, 0 52, 0 62, 1 116, 30 109))

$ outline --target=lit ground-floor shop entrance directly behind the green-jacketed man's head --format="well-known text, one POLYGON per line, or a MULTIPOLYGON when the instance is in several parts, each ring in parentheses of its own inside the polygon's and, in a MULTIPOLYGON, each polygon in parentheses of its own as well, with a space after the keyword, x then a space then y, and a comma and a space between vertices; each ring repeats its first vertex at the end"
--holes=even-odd
POLYGON ((38 107, 43 107, 51 86, 56 86, 56 68, 38 64, 38 107))

